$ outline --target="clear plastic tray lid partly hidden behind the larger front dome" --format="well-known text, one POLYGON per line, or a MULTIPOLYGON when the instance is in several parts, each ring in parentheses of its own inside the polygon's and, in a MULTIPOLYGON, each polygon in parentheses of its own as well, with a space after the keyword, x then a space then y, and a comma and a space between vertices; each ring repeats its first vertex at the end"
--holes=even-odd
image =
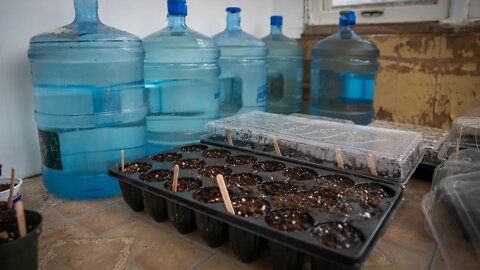
POLYGON ((448 130, 382 120, 375 120, 369 126, 420 132, 423 136, 422 143, 425 147, 425 155, 421 164, 435 167, 445 160, 445 157, 439 157, 438 153, 447 141, 448 130))

